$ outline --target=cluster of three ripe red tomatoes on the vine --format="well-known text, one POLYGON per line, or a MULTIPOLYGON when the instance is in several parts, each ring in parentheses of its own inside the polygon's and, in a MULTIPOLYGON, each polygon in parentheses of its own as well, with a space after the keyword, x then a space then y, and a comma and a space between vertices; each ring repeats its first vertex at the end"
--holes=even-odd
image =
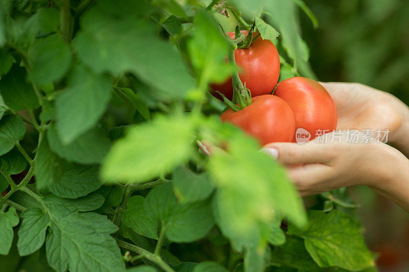
MULTIPOLYGON (((227 34, 234 37, 234 32, 227 34)), ((309 133, 308 139, 311 140, 317 133, 336 128, 335 103, 321 84, 302 77, 277 84, 280 57, 269 40, 258 37, 250 47, 237 49, 235 59, 241 67, 240 80, 252 93, 252 104, 239 111, 225 111, 220 116, 222 121, 238 126, 258 139, 261 145, 296 141, 296 131, 299 129, 309 133), (273 90, 274 94, 271 94, 273 90)), ((212 85, 212 90, 231 99, 232 79, 212 85)))

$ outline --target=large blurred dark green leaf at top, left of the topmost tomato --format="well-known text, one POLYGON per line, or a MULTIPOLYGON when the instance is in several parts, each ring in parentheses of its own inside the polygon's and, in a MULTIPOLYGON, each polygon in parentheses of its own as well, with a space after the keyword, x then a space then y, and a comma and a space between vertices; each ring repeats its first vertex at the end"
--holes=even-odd
MULTIPOLYGON (((131 0, 121 2, 133 5, 131 0)), ((130 8, 119 15, 107 10, 107 5, 98 2, 81 20, 74 47, 88 67, 113 75, 131 72, 172 98, 183 97, 195 87, 176 48, 155 35, 153 24, 142 21, 130 8)))

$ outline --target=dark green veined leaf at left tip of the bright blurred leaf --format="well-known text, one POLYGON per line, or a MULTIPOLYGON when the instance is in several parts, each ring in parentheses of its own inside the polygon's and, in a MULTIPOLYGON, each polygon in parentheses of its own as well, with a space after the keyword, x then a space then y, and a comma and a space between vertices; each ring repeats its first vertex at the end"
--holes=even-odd
POLYGON ((59 197, 77 199, 99 189, 98 166, 71 164, 66 167, 61 179, 48 186, 48 189, 59 197))

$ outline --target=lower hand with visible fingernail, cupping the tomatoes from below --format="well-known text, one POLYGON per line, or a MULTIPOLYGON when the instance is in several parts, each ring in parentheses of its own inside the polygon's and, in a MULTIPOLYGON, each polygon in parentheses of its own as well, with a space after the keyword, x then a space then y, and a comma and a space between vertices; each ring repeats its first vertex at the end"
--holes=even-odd
MULTIPOLYGON (((331 139, 332 134, 326 137, 331 139)), ((302 145, 277 142, 266 144, 263 151, 286 166, 289 178, 302 196, 351 185, 390 191, 395 170, 401 165, 408 166, 407 159, 387 144, 362 140, 363 134, 359 134, 357 143, 347 142, 344 133, 340 142, 309 141, 302 145)))

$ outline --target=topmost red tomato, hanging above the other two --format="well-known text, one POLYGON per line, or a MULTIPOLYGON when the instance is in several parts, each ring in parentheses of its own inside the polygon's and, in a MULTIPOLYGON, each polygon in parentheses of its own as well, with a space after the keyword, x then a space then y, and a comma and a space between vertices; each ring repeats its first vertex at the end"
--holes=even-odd
MULTIPOLYGON (((247 30, 241 31, 244 35, 248 34, 247 30)), ((227 33, 234 39, 235 33, 227 33)), ((253 33, 253 37, 256 37, 253 33)), ((260 36, 246 49, 237 49, 234 52, 236 65, 241 68, 239 77, 246 88, 251 90, 252 96, 271 94, 276 87, 280 76, 280 57, 276 46, 269 40, 263 40, 260 36)), ((229 78, 222 84, 213 84, 211 86, 213 94, 221 98, 215 91, 224 94, 229 100, 233 98, 232 78, 229 78)))

